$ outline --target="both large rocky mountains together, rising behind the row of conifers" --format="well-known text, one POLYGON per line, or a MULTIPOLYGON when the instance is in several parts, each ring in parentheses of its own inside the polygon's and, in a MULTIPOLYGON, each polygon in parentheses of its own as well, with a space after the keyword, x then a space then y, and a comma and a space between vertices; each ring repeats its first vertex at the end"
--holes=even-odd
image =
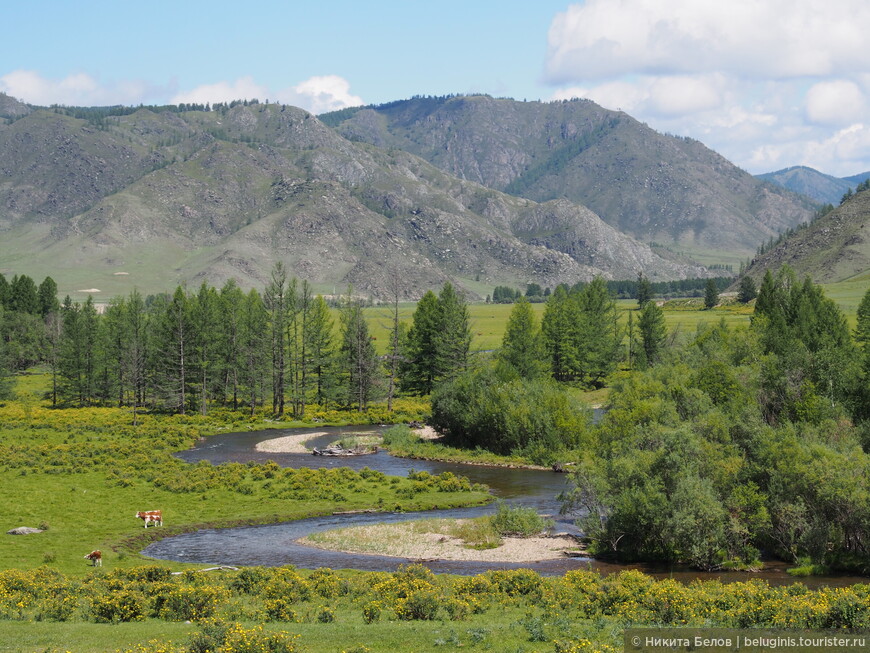
POLYGON ((417 152, 399 147, 386 127, 377 133, 390 142, 354 131, 389 123, 374 108, 321 121, 256 101, 40 108, 0 94, 0 272, 50 274, 62 293, 111 296, 229 278, 261 287, 282 260, 321 292, 353 284, 383 296, 398 280, 413 298, 450 279, 482 297, 496 284, 547 286, 596 274, 703 276, 694 261, 643 241, 754 245, 809 212, 797 196, 753 180, 700 143, 592 103, 436 104, 463 101, 523 120, 484 138, 476 120, 423 112, 420 120, 435 123, 431 133, 410 121, 402 141, 429 139, 417 152), (496 147, 495 136, 507 140, 496 147), (453 150, 457 170, 434 156, 438 143, 453 150), (598 163, 590 149, 602 153, 598 163), (582 151, 570 156, 575 150, 582 151), (478 173, 458 169, 472 159, 478 173), (661 172, 646 184, 636 176, 643 166, 632 163, 641 159, 657 160, 661 172), (579 201, 575 187, 589 187, 588 179, 569 183, 590 167, 601 190, 592 199, 621 207, 603 211, 610 224, 587 207, 592 200, 579 201), (565 188, 556 192, 559 179, 565 188), (690 200, 704 186, 717 190, 690 200), (620 213, 631 207, 637 224, 620 213))

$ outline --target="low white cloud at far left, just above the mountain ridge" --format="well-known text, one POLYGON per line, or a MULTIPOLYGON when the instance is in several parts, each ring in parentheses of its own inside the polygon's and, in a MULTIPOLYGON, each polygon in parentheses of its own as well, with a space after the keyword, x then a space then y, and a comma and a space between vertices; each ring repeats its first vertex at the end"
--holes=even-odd
POLYGON ((63 79, 48 79, 32 70, 15 70, 0 76, 0 92, 41 106, 139 104, 153 91, 153 87, 142 81, 103 84, 85 73, 75 73, 63 79))

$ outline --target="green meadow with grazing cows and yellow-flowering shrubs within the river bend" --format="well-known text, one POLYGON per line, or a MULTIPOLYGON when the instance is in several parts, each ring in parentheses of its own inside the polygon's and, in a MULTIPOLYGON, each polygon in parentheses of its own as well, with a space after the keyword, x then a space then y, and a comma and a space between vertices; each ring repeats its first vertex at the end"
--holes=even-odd
MULTIPOLYGON (((293 470, 271 462, 190 465, 172 453, 212 433, 286 424, 215 411, 209 417, 144 414, 132 426, 127 410, 48 408, 36 400, 40 382, 40 377, 22 377, 18 392, 23 400, 0 406, 0 568, 46 564, 81 574, 87 571, 83 556, 94 549, 103 552, 107 568, 129 567, 142 563, 138 551, 150 541, 202 527, 491 500, 485 488, 450 474, 421 484, 347 468, 293 470), (163 527, 145 529, 134 517, 139 510, 156 509, 163 511, 163 527), (5 534, 19 526, 46 530, 5 534)), ((323 413, 319 424, 340 417, 323 413)), ((344 417, 377 423, 389 415, 378 408, 371 415, 344 417)))

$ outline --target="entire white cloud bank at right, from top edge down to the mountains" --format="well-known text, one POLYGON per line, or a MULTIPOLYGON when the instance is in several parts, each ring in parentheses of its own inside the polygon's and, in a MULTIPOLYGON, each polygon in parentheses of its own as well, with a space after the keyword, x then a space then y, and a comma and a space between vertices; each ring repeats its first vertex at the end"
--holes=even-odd
POLYGON ((864 0, 586 0, 554 18, 545 79, 751 172, 848 175, 870 169, 868 32, 864 0))

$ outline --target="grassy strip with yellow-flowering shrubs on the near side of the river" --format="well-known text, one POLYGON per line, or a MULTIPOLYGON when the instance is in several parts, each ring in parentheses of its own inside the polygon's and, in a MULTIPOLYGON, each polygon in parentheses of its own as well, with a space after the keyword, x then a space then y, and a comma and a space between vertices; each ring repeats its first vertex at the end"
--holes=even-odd
POLYGON ((621 650, 630 626, 864 630, 870 586, 683 585, 637 571, 436 576, 420 565, 177 576, 156 565, 85 576, 42 567, 0 572, 0 626, 0 650, 47 653, 579 653, 621 650))

